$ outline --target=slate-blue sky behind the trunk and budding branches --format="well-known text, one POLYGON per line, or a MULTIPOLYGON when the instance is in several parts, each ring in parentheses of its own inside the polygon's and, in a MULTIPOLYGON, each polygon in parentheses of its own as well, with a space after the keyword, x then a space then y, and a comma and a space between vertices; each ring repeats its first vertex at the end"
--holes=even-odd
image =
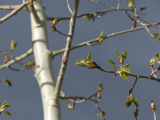
MULTIPOLYGON (((100 0, 106 4, 117 6, 118 0, 100 0)), ((127 9, 127 0, 121 0, 120 8, 127 9)), ((21 4, 20 0, 0 0, 0 5, 17 5, 21 4)), ((146 6, 147 9, 141 13, 140 17, 155 23, 160 21, 160 1, 159 0, 135 0, 137 9, 146 6)), ((65 17, 70 16, 66 0, 43 0, 48 17, 65 17)), ((70 0, 73 8, 74 0, 70 0)), ((110 8, 98 3, 80 0, 78 15, 110 8)), ((0 18, 10 11, 0 10, 0 18)), ((57 29, 63 33, 68 33, 69 20, 60 21, 57 29)), ((65 47, 66 37, 58 33, 50 33, 51 21, 48 21, 48 36, 51 50, 59 50, 65 47)), ((140 27, 140 25, 137 25, 140 27)), ((81 18, 76 20, 75 34, 73 44, 76 45, 88 40, 99 37, 101 31, 104 34, 116 33, 127 30, 132 27, 131 20, 122 12, 110 12, 95 21, 88 21, 81 18)), ((159 33, 156 28, 149 28, 153 33, 159 33)), ((31 47, 31 28, 30 17, 28 12, 21 11, 16 16, 0 24, 1 44, 0 50, 10 52, 10 42, 15 40, 18 46, 14 51, 14 57, 25 53, 31 47)), ((127 34, 122 34, 106 39, 101 45, 85 46, 71 51, 62 90, 69 96, 88 97, 96 92, 99 81, 103 83, 102 100, 99 106, 105 111, 107 120, 134 120, 134 104, 130 108, 125 108, 126 97, 129 89, 134 83, 133 77, 128 77, 129 82, 125 82, 119 76, 101 72, 97 69, 86 69, 74 65, 76 60, 86 59, 90 50, 92 58, 98 65, 104 69, 114 70, 108 63, 107 59, 116 63, 119 68, 118 58, 115 49, 122 53, 127 51, 125 64, 131 63, 131 73, 149 75, 149 61, 154 53, 160 52, 160 43, 152 38, 146 30, 140 30, 127 34)), ((2 55, 1 55, 2 56, 2 55)), ((2 56, 3 57, 3 56, 2 56)), ((62 55, 58 55, 53 60, 54 75, 57 78, 62 55)), ((33 55, 23 60, 27 63, 29 59, 34 59, 33 55)), ((3 64, 3 59, 0 60, 3 64)), ((12 67, 21 68, 20 65, 12 67)), ((157 66, 156 66, 157 67, 157 66)), ((156 69, 154 67, 154 69, 156 69)), ((157 73, 157 76, 160 76, 157 73)), ((7 110, 12 117, 1 114, 0 120, 43 120, 42 104, 40 89, 34 78, 34 73, 30 70, 15 72, 8 68, 0 71, 0 79, 9 79, 13 86, 10 88, 1 82, 0 84, 0 102, 4 100, 11 102, 11 107, 7 110)), ((138 79, 133 91, 133 96, 139 102, 139 120, 153 120, 153 112, 150 107, 151 100, 156 102, 157 119, 160 119, 160 83, 148 80, 138 79)), ((63 120, 101 120, 97 117, 99 110, 91 101, 76 104, 74 110, 67 108, 67 102, 61 100, 62 119, 63 120)))

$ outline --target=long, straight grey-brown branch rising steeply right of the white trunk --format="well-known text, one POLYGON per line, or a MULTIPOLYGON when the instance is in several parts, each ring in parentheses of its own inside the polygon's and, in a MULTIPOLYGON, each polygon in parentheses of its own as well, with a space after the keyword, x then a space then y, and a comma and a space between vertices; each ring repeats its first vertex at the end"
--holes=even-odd
POLYGON ((59 96, 60 89, 61 89, 62 82, 63 82, 63 77, 64 77, 65 70, 66 70, 67 63, 68 63, 68 57, 69 57, 72 38, 73 38, 73 34, 74 34, 76 15, 77 15, 77 11, 78 11, 78 5, 79 5, 79 0, 76 0, 75 5, 74 5, 74 9, 73 9, 73 12, 72 12, 72 17, 71 17, 71 20, 70 20, 70 30, 69 30, 69 35, 70 36, 67 37, 67 44, 66 44, 66 48, 65 48, 65 51, 64 51, 64 54, 63 54, 63 57, 62 57, 61 68, 60 68, 59 75, 57 77, 57 83, 56 83, 56 86, 55 86, 54 96, 55 96, 56 100, 58 100, 58 96, 59 96))

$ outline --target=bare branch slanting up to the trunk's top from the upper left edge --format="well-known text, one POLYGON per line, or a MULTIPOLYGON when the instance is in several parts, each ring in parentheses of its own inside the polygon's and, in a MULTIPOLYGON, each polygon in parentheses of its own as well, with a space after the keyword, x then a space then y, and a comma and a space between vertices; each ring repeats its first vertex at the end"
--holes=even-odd
POLYGON ((12 12, 10 12, 8 15, 6 15, 5 17, 0 19, 0 24, 6 20, 8 20, 9 18, 11 18, 13 15, 17 14, 21 9, 23 9, 26 5, 28 5, 28 1, 22 3, 21 5, 19 5, 16 9, 14 9, 12 12))

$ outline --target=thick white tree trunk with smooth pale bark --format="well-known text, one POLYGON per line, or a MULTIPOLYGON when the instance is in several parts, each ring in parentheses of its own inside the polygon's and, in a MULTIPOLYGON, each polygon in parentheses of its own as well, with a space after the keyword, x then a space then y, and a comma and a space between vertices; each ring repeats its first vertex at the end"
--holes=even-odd
POLYGON ((35 70, 35 77, 41 89, 44 120, 61 120, 59 101, 53 100, 55 80, 52 70, 51 52, 48 47, 46 15, 41 0, 35 1, 33 5, 35 9, 32 8, 30 10, 32 47, 36 66, 39 66, 35 70))

